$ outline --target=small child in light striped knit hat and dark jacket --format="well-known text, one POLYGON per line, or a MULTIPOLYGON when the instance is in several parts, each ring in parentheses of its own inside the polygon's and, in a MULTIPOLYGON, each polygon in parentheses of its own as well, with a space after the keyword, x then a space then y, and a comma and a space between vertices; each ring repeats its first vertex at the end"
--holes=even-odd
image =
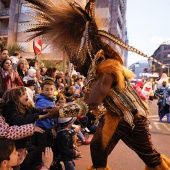
POLYGON ((64 162, 65 169, 75 170, 75 159, 80 152, 75 150, 73 146, 73 133, 71 126, 75 118, 58 118, 59 128, 57 130, 57 137, 54 142, 53 152, 59 161, 64 162))

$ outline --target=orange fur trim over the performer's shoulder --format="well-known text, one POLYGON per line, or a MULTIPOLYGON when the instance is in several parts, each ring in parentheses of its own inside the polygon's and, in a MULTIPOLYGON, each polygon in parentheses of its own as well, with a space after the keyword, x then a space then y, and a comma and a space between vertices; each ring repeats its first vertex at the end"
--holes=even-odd
POLYGON ((134 73, 126 69, 118 60, 107 59, 97 67, 97 74, 113 74, 115 81, 117 81, 117 86, 120 89, 125 88, 124 77, 127 79, 132 79, 134 73))

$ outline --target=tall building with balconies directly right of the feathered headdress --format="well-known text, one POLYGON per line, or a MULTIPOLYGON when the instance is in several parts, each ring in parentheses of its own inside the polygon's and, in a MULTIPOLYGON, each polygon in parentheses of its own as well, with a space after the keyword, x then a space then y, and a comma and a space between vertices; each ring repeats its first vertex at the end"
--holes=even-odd
MULTIPOLYGON (((128 43, 126 28, 126 0, 96 0, 96 15, 100 18, 100 25, 103 30, 109 31, 122 41, 128 43)), ((109 42, 117 51, 127 67, 127 51, 109 42)))

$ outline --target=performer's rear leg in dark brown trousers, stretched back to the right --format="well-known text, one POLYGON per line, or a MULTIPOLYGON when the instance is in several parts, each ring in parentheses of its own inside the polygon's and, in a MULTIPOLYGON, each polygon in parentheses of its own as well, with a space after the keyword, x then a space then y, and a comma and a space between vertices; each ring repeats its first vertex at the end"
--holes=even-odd
POLYGON ((160 166, 162 158, 153 147, 148 120, 142 116, 136 116, 134 124, 135 127, 132 130, 125 121, 122 121, 119 123, 116 133, 119 134, 127 146, 138 154, 148 167, 155 168, 160 166))

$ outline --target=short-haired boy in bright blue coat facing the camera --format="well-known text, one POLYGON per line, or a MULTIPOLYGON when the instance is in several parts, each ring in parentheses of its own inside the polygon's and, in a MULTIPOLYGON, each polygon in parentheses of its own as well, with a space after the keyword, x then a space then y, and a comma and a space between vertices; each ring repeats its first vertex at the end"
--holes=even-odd
MULTIPOLYGON (((54 98, 55 84, 52 80, 45 80, 42 83, 42 93, 37 96, 36 108, 45 108, 55 106, 54 98)), ((54 127, 54 119, 38 120, 36 126, 45 130, 45 133, 35 133, 35 145, 41 151, 44 151, 46 146, 52 147, 54 127)))

